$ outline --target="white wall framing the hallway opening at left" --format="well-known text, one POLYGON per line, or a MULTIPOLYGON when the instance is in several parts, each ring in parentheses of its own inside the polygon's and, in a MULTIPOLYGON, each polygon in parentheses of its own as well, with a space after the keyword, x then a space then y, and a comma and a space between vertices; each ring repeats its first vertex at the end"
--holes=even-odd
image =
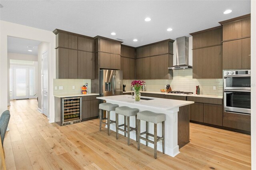
MULTIPOLYGON (((53 79, 56 77, 55 66, 55 35, 46 30, 0 21, 0 113, 7 110, 8 104, 8 58, 7 58, 7 36, 26 38, 41 42, 49 42, 49 122, 54 122, 54 96, 53 79)), ((39 64, 39 63, 38 63, 39 64)))

